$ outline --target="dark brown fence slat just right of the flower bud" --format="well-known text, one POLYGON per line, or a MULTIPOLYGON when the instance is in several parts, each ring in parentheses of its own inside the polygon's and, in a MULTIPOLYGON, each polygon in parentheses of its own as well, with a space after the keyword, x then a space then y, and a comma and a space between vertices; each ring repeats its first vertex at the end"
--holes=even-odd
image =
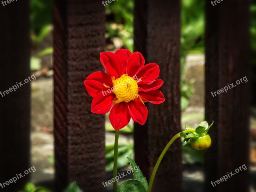
POLYGON ((246 192, 249 191, 249 1, 223 1, 215 6, 210 1, 205 3, 205 116, 208 122, 215 123, 209 131, 212 146, 206 151, 204 191, 246 192), (248 83, 216 94, 244 76, 248 83), (213 97, 211 92, 217 96, 213 97), (243 164, 246 171, 216 186, 213 184, 214 187, 211 185, 211 181, 227 172, 235 173, 243 164))

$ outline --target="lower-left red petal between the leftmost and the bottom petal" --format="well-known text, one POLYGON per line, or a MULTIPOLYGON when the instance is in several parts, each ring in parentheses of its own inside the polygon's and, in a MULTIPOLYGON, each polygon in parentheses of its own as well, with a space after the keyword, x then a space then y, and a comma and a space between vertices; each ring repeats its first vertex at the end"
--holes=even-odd
POLYGON ((114 93, 110 95, 103 95, 100 92, 92 100, 92 113, 105 114, 111 109, 114 101, 116 100, 116 95, 114 93))

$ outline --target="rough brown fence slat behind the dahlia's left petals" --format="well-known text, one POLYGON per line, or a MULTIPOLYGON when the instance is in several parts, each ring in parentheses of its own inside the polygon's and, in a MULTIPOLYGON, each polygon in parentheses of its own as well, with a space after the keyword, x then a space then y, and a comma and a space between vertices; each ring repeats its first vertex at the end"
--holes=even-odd
POLYGON ((100 1, 56 0, 54 7, 54 136, 57 191, 77 181, 104 191, 104 116, 91 113, 84 79, 102 71, 105 9, 100 1))

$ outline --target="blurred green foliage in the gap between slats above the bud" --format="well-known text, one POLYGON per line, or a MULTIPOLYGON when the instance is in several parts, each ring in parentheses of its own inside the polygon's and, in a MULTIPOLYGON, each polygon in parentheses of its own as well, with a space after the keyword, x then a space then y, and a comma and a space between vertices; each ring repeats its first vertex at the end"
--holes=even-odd
POLYGON ((185 81, 188 53, 204 53, 204 1, 182 0, 180 37, 181 110, 189 105, 195 80, 185 81))

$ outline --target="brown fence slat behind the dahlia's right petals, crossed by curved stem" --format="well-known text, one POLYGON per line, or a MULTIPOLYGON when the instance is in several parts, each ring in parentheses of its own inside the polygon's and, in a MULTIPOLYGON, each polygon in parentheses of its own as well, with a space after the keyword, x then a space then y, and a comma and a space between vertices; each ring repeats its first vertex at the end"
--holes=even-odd
MULTIPOLYGON (((136 0, 134 49, 146 63, 157 63, 165 101, 147 104, 145 126, 135 124, 135 161, 147 178, 168 141, 180 132, 180 1, 136 0)), ((181 191, 181 143, 166 153, 156 174, 153 191, 181 191)))

